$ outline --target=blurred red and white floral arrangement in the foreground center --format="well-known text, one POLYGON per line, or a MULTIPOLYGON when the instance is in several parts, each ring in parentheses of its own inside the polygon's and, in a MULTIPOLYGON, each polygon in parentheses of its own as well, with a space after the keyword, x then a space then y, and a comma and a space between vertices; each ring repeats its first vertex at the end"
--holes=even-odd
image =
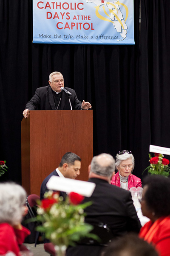
POLYGON ((37 230, 58 246, 74 245, 85 236, 97 239, 90 233, 93 226, 84 221, 84 209, 92 203, 80 204, 83 199, 75 192, 71 192, 65 200, 58 192, 46 192, 37 208, 36 220, 41 223, 37 230))

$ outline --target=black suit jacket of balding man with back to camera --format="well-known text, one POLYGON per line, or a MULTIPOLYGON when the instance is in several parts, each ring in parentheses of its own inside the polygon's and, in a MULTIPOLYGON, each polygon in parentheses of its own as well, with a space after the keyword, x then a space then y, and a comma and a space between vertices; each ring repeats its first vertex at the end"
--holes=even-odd
MULTIPOLYGON (((127 232, 139 233, 141 224, 130 192, 102 179, 91 178, 88 181, 94 182, 96 188, 90 198, 84 199, 84 202, 93 202, 85 209, 87 214, 85 222, 107 224, 113 233, 113 238, 127 232)), ((67 256, 98 256, 101 250, 102 247, 99 246, 77 245, 68 248, 67 256)))

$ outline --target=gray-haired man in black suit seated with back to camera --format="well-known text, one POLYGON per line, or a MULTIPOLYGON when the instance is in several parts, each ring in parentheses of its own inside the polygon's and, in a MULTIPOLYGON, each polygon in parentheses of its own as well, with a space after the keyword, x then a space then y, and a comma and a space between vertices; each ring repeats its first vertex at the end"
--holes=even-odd
MULTIPOLYGON (((86 197, 83 201, 83 203, 92 201, 92 204, 85 209, 85 222, 108 226, 112 239, 128 232, 139 233, 141 228, 130 192, 111 185, 114 171, 115 160, 110 154, 104 153, 93 157, 88 167, 88 181, 95 183, 96 187, 91 197, 86 197)), ((96 233, 96 235, 101 234, 96 233)), ((86 244, 80 242, 76 247, 69 247, 67 256, 99 256, 103 249, 102 243, 94 245, 90 243, 91 241, 86 244)))

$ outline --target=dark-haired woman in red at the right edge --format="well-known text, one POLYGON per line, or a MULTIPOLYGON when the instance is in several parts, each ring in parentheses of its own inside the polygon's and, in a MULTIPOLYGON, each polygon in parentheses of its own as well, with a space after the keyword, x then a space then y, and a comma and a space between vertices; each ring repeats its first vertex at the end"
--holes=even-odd
POLYGON ((150 221, 141 228, 139 237, 155 245, 160 256, 170 256, 170 179, 147 176, 141 200, 142 214, 150 221))

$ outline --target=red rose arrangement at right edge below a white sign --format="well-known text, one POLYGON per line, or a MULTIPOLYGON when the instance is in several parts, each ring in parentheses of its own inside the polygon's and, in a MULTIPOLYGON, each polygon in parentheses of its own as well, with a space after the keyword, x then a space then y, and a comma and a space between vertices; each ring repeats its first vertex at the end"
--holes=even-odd
POLYGON ((170 167, 168 166, 170 161, 167 158, 164 158, 163 154, 155 153, 154 157, 151 157, 149 154, 149 157, 150 166, 145 169, 148 170, 148 173, 151 175, 163 175, 166 177, 170 175, 170 167))

